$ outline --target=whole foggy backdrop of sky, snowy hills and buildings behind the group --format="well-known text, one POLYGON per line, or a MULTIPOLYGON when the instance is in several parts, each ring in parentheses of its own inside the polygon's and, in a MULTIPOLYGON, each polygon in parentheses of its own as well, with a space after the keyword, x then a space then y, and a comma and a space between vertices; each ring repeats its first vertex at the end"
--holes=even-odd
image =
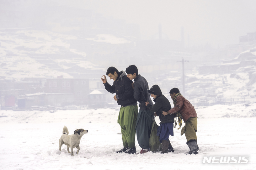
POLYGON ((255 101, 254 1, 0 4, 2 109, 117 106, 100 78, 130 64, 169 100, 178 87, 195 106, 255 101))

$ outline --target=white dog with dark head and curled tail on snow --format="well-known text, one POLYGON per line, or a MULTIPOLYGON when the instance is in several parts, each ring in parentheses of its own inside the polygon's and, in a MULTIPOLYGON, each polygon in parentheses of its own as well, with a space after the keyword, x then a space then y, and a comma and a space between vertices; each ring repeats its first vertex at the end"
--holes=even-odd
MULTIPOLYGON (((59 147, 60 147, 60 150, 61 150, 61 147, 62 145, 66 145, 67 146, 67 150, 69 152, 69 148, 71 148, 71 156, 74 155, 74 152, 73 152, 73 149, 74 148, 77 148, 78 150, 76 151, 76 154, 78 154, 79 150, 80 150, 80 147, 79 147, 79 144, 80 144, 80 140, 82 138, 82 136, 84 134, 87 134, 88 130, 84 130, 84 129, 76 129, 74 131, 74 134, 72 135, 68 135, 69 132, 68 132, 68 128, 66 126, 64 126, 63 128, 63 135, 60 137, 59 139, 59 147)), ((70 152, 69 152, 70 153, 70 152)))

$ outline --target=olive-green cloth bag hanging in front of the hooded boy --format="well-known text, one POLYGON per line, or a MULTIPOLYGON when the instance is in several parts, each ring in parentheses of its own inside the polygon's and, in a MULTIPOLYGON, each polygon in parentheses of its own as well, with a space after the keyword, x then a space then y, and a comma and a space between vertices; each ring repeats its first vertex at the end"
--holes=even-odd
POLYGON ((151 125, 151 134, 149 137, 149 148, 152 152, 157 152, 160 150, 159 136, 156 135, 157 128, 159 126, 155 122, 155 117, 151 125))

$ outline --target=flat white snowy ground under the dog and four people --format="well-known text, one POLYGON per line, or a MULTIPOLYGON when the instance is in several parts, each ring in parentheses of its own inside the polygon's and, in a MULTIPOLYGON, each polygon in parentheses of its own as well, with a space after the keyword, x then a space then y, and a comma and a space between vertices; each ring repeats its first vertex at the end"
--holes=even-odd
MULTIPOLYGON (((174 153, 122 154, 122 137, 117 124, 119 108, 69 111, 0 111, 0 169, 256 169, 256 104, 215 105, 196 108, 198 113, 197 155, 186 155, 185 136, 175 128, 170 141, 174 153), (81 138, 80 152, 74 156, 59 138, 63 126, 70 133, 89 130, 81 138), (204 156, 246 156, 248 163, 205 163, 204 156)), ((159 124, 159 120, 156 120, 159 124)), ((184 124, 183 124, 184 125, 184 124)), ((140 151, 136 141, 137 153, 140 151)))

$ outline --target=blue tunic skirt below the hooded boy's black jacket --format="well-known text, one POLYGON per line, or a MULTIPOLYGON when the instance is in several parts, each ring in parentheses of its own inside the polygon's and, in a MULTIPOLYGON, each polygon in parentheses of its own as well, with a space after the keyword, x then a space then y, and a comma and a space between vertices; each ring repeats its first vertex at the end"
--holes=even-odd
POLYGON ((158 127, 156 135, 159 136, 159 141, 162 143, 162 140, 169 140, 169 136, 174 136, 173 132, 173 124, 174 123, 162 123, 158 127))

